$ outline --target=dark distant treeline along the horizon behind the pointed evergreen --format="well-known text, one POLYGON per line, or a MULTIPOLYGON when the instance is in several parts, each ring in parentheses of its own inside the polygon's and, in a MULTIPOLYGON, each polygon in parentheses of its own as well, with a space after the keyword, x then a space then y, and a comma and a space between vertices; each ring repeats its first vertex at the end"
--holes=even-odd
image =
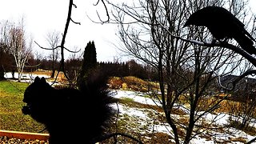
MULTIPOLYGON (((34 59, 29 60, 29 65, 25 66, 25 71, 34 71, 38 69, 52 70, 52 61, 50 59, 34 59)), ((59 62, 55 64, 57 70, 59 68, 59 62)), ((66 73, 70 78, 74 78, 78 75, 82 66, 82 59, 70 58, 65 62, 66 73)), ((125 77, 135 76, 150 81, 158 81, 158 73, 152 66, 145 66, 139 64, 135 60, 129 60, 127 62, 98 62, 100 70, 104 71, 109 76, 125 77)))

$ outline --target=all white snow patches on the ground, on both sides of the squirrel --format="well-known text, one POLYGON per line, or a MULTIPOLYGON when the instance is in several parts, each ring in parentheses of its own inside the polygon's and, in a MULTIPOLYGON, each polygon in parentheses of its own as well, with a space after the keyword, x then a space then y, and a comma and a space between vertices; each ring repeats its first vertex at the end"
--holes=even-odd
MULTIPOLYGON (((34 79, 35 77, 45 77, 45 78, 49 78, 48 75, 40 75, 40 74, 22 74, 22 78, 24 80, 22 80, 22 82, 30 82, 31 79, 34 79)), ((11 73, 6 73, 5 74, 5 78, 12 78, 12 74, 11 73)), ((14 74, 14 78, 18 78, 18 73, 14 74)), ((50 83, 50 82, 49 82, 50 83)), ((112 96, 114 98, 131 98, 134 100, 134 102, 140 102, 142 104, 148 104, 148 105, 153 105, 153 106, 161 106, 160 102, 154 101, 151 98, 147 98, 144 97, 144 95, 148 95, 142 92, 135 92, 135 91, 130 91, 130 90, 112 90, 112 96)), ((137 123, 139 123, 141 126, 148 126, 149 122, 153 122, 155 119, 153 119, 152 117, 150 117, 145 110, 142 109, 138 109, 138 108, 134 108, 134 107, 130 107, 130 106, 125 106, 122 104, 113 104, 112 105, 116 110, 119 111, 120 114, 127 114, 130 117, 134 117, 136 118, 137 123), (138 122, 141 121, 141 122, 138 122)), ((178 106, 176 105, 180 110, 183 110, 186 114, 189 114, 189 110, 187 110, 185 107, 186 106, 178 106)), ((203 112, 199 112, 199 113, 203 113, 203 112)), ((176 116, 177 118, 179 116, 176 116)), ((215 125, 218 126, 225 126, 226 124, 228 124, 228 120, 229 120, 230 115, 229 114, 206 114, 203 118, 206 121, 211 122, 212 120, 215 120, 215 125)), ((255 126, 255 123, 254 123, 255 126)), ((158 131, 158 132, 162 132, 165 134, 172 134, 172 130, 169 126, 169 124, 167 123, 159 123, 159 124, 151 124, 149 129, 154 130, 154 131, 158 131)), ((148 131, 150 131, 148 130, 148 131)), ((225 130, 224 130, 225 131, 225 130)), ((211 134, 214 135, 214 140, 207 140, 206 138, 201 138, 200 136, 195 136, 195 138, 193 138, 190 141, 190 144, 200 144, 200 143, 205 143, 205 144, 214 144, 216 143, 215 141, 221 142, 222 140, 228 140, 230 138, 247 138, 247 141, 249 141, 250 139, 254 138, 254 136, 251 136, 249 134, 246 134, 245 132, 243 132, 242 130, 236 130, 236 129, 226 129, 226 131, 229 131, 230 134, 226 134, 226 133, 221 133, 218 131, 207 131, 204 134, 211 134)), ((242 142, 232 142, 232 143, 242 143, 242 142)))

